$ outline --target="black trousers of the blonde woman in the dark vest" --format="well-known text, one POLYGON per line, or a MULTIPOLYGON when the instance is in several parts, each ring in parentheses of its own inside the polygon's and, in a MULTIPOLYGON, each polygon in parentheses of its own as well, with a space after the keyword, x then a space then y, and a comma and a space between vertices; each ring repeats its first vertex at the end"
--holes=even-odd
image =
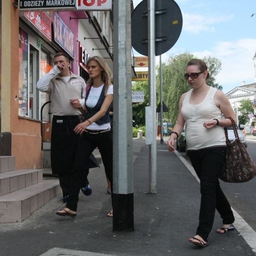
POLYGON ((105 168, 108 180, 111 183, 111 197, 112 197, 112 183, 113 183, 113 136, 112 131, 101 134, 89 134, 83 132, 80 137, 74 171, 71 177, 69 198, 66 207, 76 211, 79 200, 79 191, 81 187, 81 180, 84 174, 84 167, 88 165, 90 154, 98 147, 102 162, 105 168))

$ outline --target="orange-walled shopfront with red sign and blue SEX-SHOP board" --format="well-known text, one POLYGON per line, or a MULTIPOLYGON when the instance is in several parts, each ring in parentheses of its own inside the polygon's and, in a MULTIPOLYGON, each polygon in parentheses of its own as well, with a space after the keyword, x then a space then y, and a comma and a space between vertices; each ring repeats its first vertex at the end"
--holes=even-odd
POLYGON ((1 33, 4 53, 1 70, 5 76, 1 84, 5 86, 0 87, 0 96, 4 98, 0 155, 15 156, 18 169, 38 169, 41 168, 41 121, 50 123, 52 115, 47 104, 50 96, 39 92, 36 83, 52 68, 56 52, 66 52, 73 63, 78 47, 73 33, 55 12, 19 12, 9 1, 1 6, 5 10, 5 29, 1 33))

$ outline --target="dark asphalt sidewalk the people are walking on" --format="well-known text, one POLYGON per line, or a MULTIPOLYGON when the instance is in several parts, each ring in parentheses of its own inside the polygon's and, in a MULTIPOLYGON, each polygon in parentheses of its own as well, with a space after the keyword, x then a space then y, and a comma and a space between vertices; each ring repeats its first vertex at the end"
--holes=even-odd
MULTIPOLYGON (((64 207, 61 195, 22 223, 1 224, 0 256, 253 256, 237 230, 215 233, 221 218, 215 215, 209 246, 197 247, 195 235, 200 188, 195 177, 166 143, 157 140, 157 194, 148 194, 149 146, 133 140, 135 231, 113 232, 104 168, 90 170, 91 196, 80 194, 76 218, 55 214, 64 207)), ((55 178, 55 177, 49 177, 55 178)))

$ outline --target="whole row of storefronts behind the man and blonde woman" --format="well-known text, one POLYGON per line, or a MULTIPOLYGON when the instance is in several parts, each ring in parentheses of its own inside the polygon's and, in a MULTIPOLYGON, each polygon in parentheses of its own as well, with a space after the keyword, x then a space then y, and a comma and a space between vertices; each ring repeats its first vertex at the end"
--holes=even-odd
POLYGON ((18 169, 37 169, 42 163, 41 123, 50 124, 52 120, 50 96, 36 89, 38 79, 53 67, 54 54, 59 51, 70 56, 70 71, 85 81, 85 65, 91 56, 101 55, 113 70, 109 52, 112 25, 106 29, 108 12, 102 16, 92 12, 93 17, 83 11, 23 12, 16 2, 0 2, 4 10, 0 33, 0 155, 15 156, 18 169), (104 28, 103 36, 100 27, 104 28))

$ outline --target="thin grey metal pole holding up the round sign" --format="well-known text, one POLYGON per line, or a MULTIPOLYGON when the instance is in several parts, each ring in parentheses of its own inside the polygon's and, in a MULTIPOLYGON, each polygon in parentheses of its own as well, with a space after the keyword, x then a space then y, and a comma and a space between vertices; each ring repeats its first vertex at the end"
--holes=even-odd
POLYGON ((157 193, 155 1, 148 0, 148 105, 151 107, 152 142, 149 145, 149 193, 157 193))

